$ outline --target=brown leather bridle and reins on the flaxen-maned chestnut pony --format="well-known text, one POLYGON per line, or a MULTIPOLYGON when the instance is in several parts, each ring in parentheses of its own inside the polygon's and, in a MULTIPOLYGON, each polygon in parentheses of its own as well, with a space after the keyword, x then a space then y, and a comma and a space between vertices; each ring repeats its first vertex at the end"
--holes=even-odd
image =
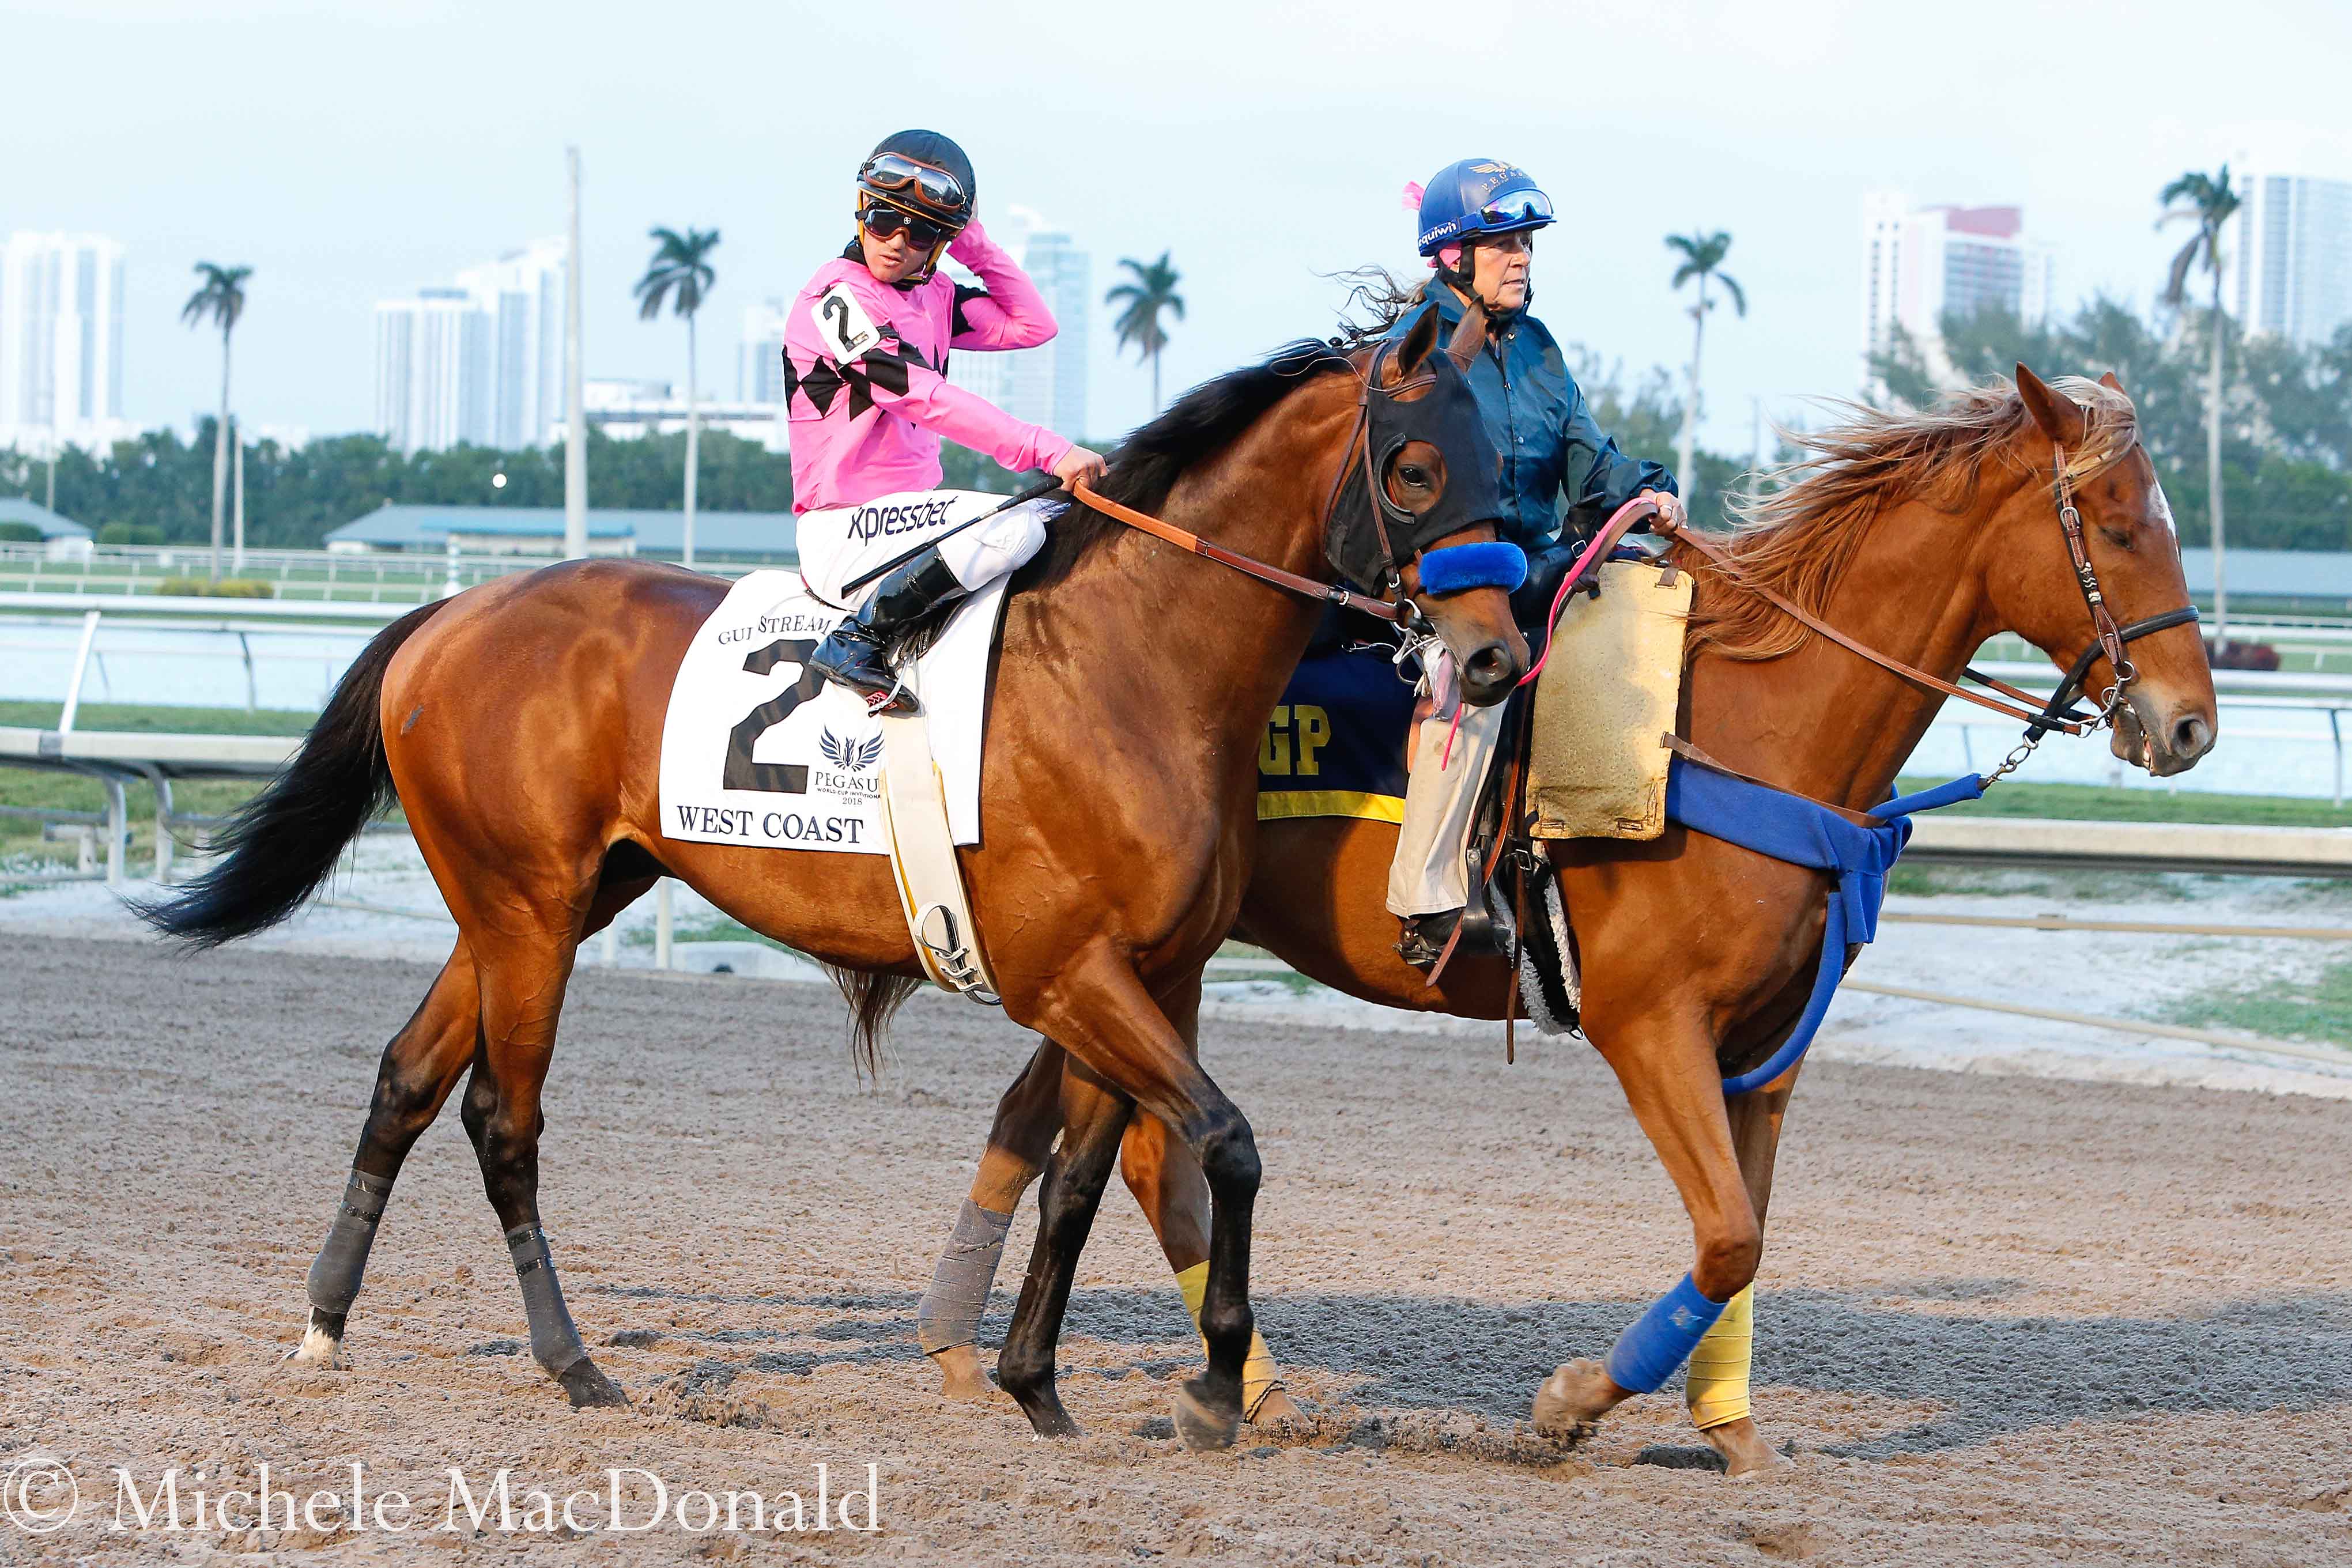
POLYGON ((1900 675, 1915 686, 1926 686, 1929 691, 1957 696, 1966 703, 1976 703, 1978 708, 1990 708, 1992 712, 2006 715, 2011 719, 2025 719, 2025 738, 2016 745, 2016 750, 2009 752, 2006 759, 2002 759, 1999 769, 1985 773, 1985 783, 1990 785, 1999 778, 2006 778, 2009 773, 2016 773, 2018 766, 2023 766, 2025 759, 2032 757, 2034 748, 2042 745, 2042 738, 2049 736, 2051 731, 2063 731, 2070 736, 2089 736, 2093 731, 2112 726, 2117 712, 2122 712, 2124 708, 2124 689, 2140 677, 2138 668, 2126 656, 2126 646, 2138 642, 2140 637, 2152 637, 2154 632, 2166 632, 2176 625, 2192 625, 2197 621, 2197 607, 2183 604, 2180 609, 2169 609, 2164 614, 2147 616, 2145 621, 2133 621, 2131 625, 2114 623, 2114 614, 2107 609, 2107 595, 2098 585, 2098 569, 2091 567, 2091 550, 2084 541, 2084 529, 2082 529, 2082 508, 2074 505, 2074 484, 2067 477, 2065 447, 2058 447, 2056 451, 2058 451, 2056 461, 2058 534, 2065 538, 2067 562, 2074 567, 2074 585, 2082 590, 2084 611, 2089 611, 2091 616, 2091 644, 2082 651, 2082 656, 2074 658, 2074 665, 2067 670, 2065 679, 2058 682, 2058 689, 2051 691, 2049 701, 2044 701, 2039 708, 2032 705, 2037 701, 2032 691, 2018 691, 2016 686, 1992 679, 1990 675, 1976 670, 1973 665, 1964 670, 1969 679, 1978 682, 1980 686, 1990 686, 1992 691, 1999 691, 2002 698, 2013 698, 2013 701, 1992 698, 1985 696, 1983 691, 1969 691, 1966 686, 1957 686, 1943 677, 1929 675, 1926 670, 1917 670, 1903 663, 1900 658, 1879 654, 1877 649, 1865 646, 1853 637, 1846 637, 1835 625, 1825 623, 1820 616, 1790 602, 1785 595, 1773 592, 1762 583, 1745 581, 1738 571, 1738 559, 1715 541, 1698 534, 1696 529, 1677 524, 1663 512, 1651 527, 1656 534, 1675 538, 1689 545, 1703 559, 1712 562, 1717 569, 1722 569, 1724 581, 1731 583, 1733 588, 1752 592, 1755 597, 1778 609, 1783 616, 1818 632, 1820 637, 1835 642, 1849 654, 1856 654, 1879 665, 1882 670, 1891 670, 1893 675, 1900 675), (2107 670, 2114 672, 2114 684, 2107 686, 2107 691, 2100 696, 2098 712, 2082 712, 2074 708, 2074 698, 2082 696, 2084 682, 2091 677, 2091 665, 2098 663, 2100 658, 2105 658, 2107 670))

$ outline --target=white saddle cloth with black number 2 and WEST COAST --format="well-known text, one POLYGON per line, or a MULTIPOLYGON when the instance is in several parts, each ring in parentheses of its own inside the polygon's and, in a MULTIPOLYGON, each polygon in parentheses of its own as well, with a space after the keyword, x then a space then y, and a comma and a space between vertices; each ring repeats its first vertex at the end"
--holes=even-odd
MULTIPOLYGON (((1002 581, 974 592, 908 672, 957 844, 981 842, 988 649, 1002 607, 1002 581)), ((753 571, 727 590, 687 644, 661 724, 666 837, 889 853, 882 724, 802 663, 842 614, 814 599, 797 571, 753 571)))

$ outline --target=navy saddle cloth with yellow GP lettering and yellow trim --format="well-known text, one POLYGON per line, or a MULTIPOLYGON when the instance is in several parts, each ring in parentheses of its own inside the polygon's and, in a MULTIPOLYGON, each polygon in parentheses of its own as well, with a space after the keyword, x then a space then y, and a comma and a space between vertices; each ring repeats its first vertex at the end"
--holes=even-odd
POLYGON ((1385 646, 1308 658, 1258 738, 1258 820, 1404 820, 1404 736, 1414 689, 1385 646))

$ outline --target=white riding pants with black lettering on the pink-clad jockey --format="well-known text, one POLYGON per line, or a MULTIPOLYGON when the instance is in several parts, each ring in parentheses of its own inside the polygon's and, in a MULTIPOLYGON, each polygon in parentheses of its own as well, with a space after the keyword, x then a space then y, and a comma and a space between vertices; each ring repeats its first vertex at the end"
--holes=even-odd
POLYGON ((1044 548, 1044 524, 1063 501, 1023 501, 953 538, 941 538, 974 517, 1004 505, 1004 496, 976 489, 910 489, 875 496, 861 505, 802 512, 797 522, 800 578, 828 604, 863 604, 875 583, 851 588, 861 576, 896 567, 936 543, 955 581, 985 588, 1044 548))

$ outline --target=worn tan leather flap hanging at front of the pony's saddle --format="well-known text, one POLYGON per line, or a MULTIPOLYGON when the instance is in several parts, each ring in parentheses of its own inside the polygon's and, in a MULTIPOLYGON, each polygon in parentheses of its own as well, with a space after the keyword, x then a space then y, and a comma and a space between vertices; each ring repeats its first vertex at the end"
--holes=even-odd
POLYGON ((1538 839, 1656 839, 1682 701, 1691 574, 1606 562, 1599 597, 1573 597, 1536 682, 1526 799, 1538 839))

